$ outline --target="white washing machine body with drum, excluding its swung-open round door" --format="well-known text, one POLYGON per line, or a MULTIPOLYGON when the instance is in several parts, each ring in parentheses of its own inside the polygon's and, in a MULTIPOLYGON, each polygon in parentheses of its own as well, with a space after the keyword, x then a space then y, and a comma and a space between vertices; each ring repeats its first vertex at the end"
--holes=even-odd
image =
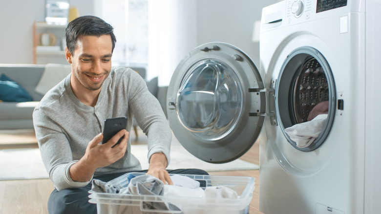
MULTIPOLYGON (((260 57, 275 81, 276 126, 260 138, 259 208, 266 214, 381 211, 380 0, 285 0, 263 8, 260 57), (284 129, 326 102, 308 147, 284 129)), ((299 133, 302 133, 299 132, 299 133)))

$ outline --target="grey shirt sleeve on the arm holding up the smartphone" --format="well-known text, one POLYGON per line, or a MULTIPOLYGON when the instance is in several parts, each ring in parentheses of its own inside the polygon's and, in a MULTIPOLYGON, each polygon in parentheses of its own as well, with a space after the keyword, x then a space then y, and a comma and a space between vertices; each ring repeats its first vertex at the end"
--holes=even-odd
POLYGON ((42 162, 54 187, 61 191, 86 186, 91 179, 87 182, 76 182, 70 177, 70 167, 77 161, 73 161, 68 139, 60 126, 38 108, 33 112, 33 123, 42 162))

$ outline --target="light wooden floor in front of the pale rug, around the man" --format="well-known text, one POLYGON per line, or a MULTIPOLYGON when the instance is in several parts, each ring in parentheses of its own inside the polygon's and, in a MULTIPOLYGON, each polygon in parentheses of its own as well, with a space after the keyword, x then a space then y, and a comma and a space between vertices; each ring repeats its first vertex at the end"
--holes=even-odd
MULTIPOLYGON (((240 159, 259 165, 259 144, 255 143, 240 159)), ((201 166, 199 168, 202 169, 201 166)), ((255 189, 250 203, 250 214, 262 214, 259 211, 258 204, 259 170, 215 171, 210 172, 210 174, 255 177, 255 189)), ((53 184, 49 179, 0 181, 0 214, 47 214, 47 200, 53 189, 53 184)))

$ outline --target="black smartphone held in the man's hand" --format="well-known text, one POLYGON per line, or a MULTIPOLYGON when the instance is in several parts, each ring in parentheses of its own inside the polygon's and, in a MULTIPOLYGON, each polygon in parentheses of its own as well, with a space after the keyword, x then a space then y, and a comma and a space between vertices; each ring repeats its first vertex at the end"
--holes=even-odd
MULTIPOLYGON (((125 129, 127 127, 127 117, 116 117, 109 118, 105 120, 105 126, 103 128, 103 140, 102 144, 107 143, 116 133, 120 130, 125 129)), ((116 144, 112 147, 118 145, 124 136, 122 136, 116 144)))

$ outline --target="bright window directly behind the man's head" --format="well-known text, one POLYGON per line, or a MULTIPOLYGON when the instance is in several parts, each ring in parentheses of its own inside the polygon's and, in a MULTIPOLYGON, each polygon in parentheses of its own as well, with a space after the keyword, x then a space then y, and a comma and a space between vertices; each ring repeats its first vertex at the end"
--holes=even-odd
POLYGON ((113 66, 148 65, 148 0, 99 0, 96 14, 114 27, 113 66))

